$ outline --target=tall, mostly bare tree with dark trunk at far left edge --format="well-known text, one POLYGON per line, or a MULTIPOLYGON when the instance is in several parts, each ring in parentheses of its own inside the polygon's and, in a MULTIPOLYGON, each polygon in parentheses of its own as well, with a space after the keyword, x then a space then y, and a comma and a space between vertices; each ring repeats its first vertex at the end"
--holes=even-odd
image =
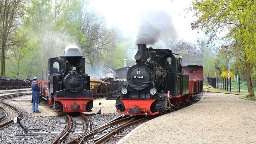
POLYGON ((1 0, 0 2, 0 33, 1 33, 1 75, 5 76, 6 43, 12 33, 14 24, 24 15, 22 0, 1 0))

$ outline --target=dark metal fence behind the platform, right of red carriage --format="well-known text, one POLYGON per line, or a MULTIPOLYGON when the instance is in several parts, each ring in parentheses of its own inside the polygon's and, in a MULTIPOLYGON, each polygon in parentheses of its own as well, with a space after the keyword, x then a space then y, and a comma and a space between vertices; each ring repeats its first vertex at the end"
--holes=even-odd
MULTIPOLYGON (((231 91, 231 78, 206 78, 208 84, 215 89, 225 89, 231 91)), ((238 78, 238 92, 240 92, 240 78, 238 78)))

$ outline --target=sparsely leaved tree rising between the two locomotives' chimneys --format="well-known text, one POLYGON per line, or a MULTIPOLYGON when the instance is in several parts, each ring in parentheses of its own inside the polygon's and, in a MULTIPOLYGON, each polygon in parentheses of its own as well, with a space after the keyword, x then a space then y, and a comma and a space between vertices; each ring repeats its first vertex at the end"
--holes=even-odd
POLYGON ((112 29, 106 27, 105 19, 88 8, 88 1, 79 1, 78 6, 77 45, 93 74, 96 69, 94 63, 102 56, 102 50, 110 48, 114 35, 112 29))

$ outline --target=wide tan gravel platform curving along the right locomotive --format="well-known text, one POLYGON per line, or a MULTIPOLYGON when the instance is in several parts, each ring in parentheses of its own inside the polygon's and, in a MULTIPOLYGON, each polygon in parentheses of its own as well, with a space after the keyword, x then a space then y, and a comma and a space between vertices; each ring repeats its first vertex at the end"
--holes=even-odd
POLYGON ((199 103, 142 124, 119 143, 256 143, 255 102, 231 94, 203 96, 199 103))

